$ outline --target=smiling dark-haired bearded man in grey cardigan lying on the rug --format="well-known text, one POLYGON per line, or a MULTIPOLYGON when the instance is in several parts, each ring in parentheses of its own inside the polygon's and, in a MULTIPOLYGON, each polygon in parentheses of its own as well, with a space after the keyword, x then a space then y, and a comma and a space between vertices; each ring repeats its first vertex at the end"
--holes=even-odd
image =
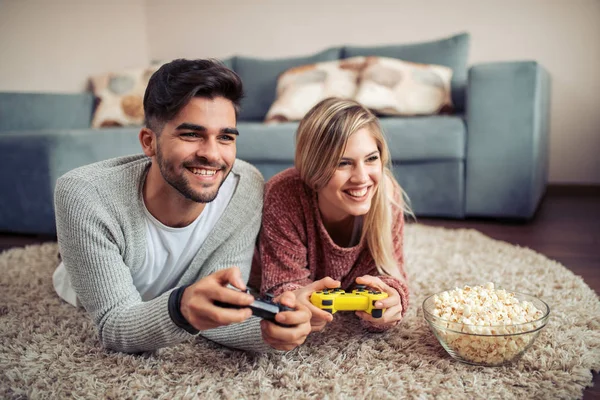
MULTIPOLYGON (((144 96, 145 155, 70 171, 56 185, 63 262, 54 285, 81 303, 104 347, 150 351, 200 334, 226 346, 290 350, 310 332, 292 293, 283 327, 251 317, 244 290, 260 229, 263 178, 236 160, 239 77, 211 60, 175 60, 144 96), (217 307, 214 301, 242 306, 217 307)), ((102 140, 99 137, 98 140, 102 140)))

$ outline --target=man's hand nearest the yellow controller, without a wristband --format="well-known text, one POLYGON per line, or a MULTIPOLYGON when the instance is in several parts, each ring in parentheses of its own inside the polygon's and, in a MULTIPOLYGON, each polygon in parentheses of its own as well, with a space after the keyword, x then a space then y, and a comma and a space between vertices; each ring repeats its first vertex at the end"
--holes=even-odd
POLYGON ((277 350, 293 350, 306 340, 310 333, 310 311, 296 301, 292 292, 284 292, 277 298, 284 306, 295 311, 277 313, 275 321, 288 326, 280 326, 267 320, 260 321, 263 340, 277 350))

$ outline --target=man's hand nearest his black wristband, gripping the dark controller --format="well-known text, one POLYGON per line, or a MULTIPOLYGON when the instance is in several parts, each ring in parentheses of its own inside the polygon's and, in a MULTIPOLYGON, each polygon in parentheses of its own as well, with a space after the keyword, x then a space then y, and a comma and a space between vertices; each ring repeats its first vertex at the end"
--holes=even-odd
POLYGON ((181 314, 199 331, 242 322, 252 315, 250 308, 217 307, 215 300, 241 307, 254 301, 251 294, 227 288, 227 284, 244 291, 246 285, 238 267, 217 271, 188 286, 181 297, 181 314))

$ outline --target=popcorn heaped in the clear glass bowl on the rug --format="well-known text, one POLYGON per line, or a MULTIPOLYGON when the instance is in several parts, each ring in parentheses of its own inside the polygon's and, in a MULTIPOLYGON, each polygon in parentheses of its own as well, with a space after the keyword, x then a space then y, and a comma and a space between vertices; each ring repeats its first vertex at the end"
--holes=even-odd
POLYGON ((522 354, 546 323, 543 312, 492 282, 435 295, 429 321, 442 345, 464 361, 501 365, 522 354))

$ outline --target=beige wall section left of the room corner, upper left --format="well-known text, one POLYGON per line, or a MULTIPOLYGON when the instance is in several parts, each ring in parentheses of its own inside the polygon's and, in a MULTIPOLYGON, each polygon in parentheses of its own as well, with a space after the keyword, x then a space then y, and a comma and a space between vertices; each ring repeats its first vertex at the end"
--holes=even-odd
POLYGON ((148 62, 144 0, 0 0, 0 90, 81 92, 148 62))

